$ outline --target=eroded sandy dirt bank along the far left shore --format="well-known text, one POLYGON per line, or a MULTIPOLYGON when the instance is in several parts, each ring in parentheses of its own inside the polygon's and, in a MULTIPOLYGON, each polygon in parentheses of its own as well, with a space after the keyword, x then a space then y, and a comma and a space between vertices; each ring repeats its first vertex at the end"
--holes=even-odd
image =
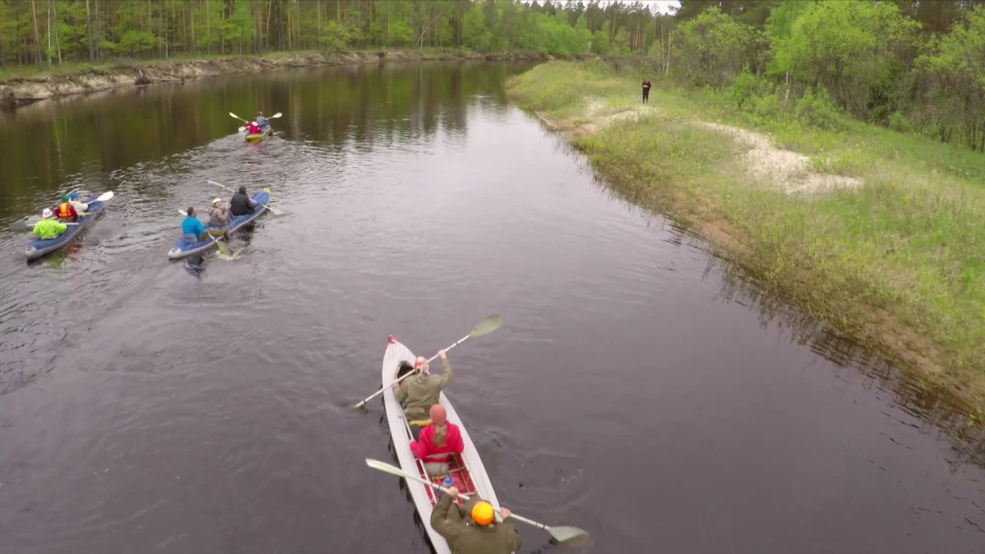
POLYGON ((553 59, 536 52, 479 53, 463 50, 379 50, 359 52, 298 52, 269 57, 235 56, 207 60, 161 61, 141 65, 116 65, 71 73, 40 75, 0 81, 0 106, 16 107, 33 102, 123 87, 169 83, 235 73, 255 73, 288 67, 318 67, 350 63, 382 63, 394 60, 515 60, 553 59))

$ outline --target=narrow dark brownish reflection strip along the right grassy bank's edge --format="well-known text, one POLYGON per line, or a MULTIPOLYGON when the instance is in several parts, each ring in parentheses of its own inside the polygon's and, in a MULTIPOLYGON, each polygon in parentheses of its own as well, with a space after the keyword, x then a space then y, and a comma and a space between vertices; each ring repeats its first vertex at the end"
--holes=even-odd
MULTIPOLYGON (((643 189, 606 181, 585 162, 581 152, 557 131, 547 127, 544 121, 539 122, 551 132, 556 152, 579 159, 579 173, 591 178, 612 198, 624 202, 629 209, 646 218, 648 226, 659 226, 669 232, 669 238, 662 240, 676 246, 688 245, 708 254, 703 280, 707 281, 712 273, 720 275, 723 280, 721 290, 715 295, 716 300, 746 307, 757 314, 763 329, 774 328, 778 337, 810 348, 838 368, 868 380, 869 386, 890 393, 896 406, 915 420, 922 421, 923 425, 899 423, 925 432, 936 430, 951 440, 954 461, 985 467, 985 429, 982 427, 985 421, 969 411, 967 405, 947 389, 929 383, 916 373, 897 368, 880 353, 840 335, 829 324, 801 312, 787 299, 766 291, 754 275, 722 257, 716 248, 694 235, 688 227, 676 223, 673 213, 654 214, 643 208, 640 205, 645 195, 643 189)), ((673 271, 672 268, 665 269, 673 271)), ((848 381, 851 377, 839 376, 839 379, 848 381)))

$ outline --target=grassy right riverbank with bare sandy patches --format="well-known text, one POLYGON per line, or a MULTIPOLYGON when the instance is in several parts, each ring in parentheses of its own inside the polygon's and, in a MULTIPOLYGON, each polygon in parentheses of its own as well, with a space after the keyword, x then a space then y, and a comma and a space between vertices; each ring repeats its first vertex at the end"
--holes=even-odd
POLYGON ((552 62, 507 88, 626 198, 688 224, 777 293, 983 405, 985 157, 826 113, 823 103, 773 117, 738 109, 734 95, 654 80, 641 108, 642 75, 552 62))

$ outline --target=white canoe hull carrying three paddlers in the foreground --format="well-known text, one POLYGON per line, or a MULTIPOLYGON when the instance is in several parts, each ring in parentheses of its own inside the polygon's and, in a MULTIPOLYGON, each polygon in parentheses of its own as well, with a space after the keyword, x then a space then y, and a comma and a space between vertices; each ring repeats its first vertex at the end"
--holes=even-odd
MULTIPOLYGON (((383 383, 393 382, 397 379, 397 371, 401 363, 408 362, 413 365, 414 359, 414 353, 410 349, 393 337, 390 337, 386 345, 386 352, 383 354, 383 383)), ((438 369, 437 371, 440 370, 438 369)), ((475 445, 472 444, 472 438, 469 437, 468 431, 462 425, 462 420, 459 419, 458 413, 452 407, 451 402, 448 401, 448 397, 444 392, 441 393, 438 401, 448 412, 448 421, 457 425, 459 431, 462 432, 462 442, 465 444, 465 450, 462 451, 461 455, 456 455, 450 464, 449 473, 455 486, 462 492, 478 493, 480 497, 488 500, 493 505, 493 508, 498 510, 499 501, 495 498, 493 483, 490 482, 489 475, 486 474, 486 466, 483 465, 483 460, 479 457, 479 452, 476 451, 475 445)), ((424 464, 414 458, 414 452, 411 451, 410 446, 410 429, 407 425, 407 420, 404 418, 404 410, 401 409, 400 402, 394 396, 392 387, 388 387, 383 392, 383 404, 386 406, 386 420, 390 426, 390 437, 393 439, 393 448, 397 452, 397 460, 400 463, 400 468, 408 473, 421 475, 425 478, 433 477, 426 476, 424 464)), ((433 480, 435 482, 439 481, 439 479, 433 480)), ((424 522, 425 529, 427 529, 427 536, 430 538, 434 551, 437 554, 451 554, 448 543, 430 526, 430 515, 436 502, 434 490, 418 482, 405 480, 405 483, 411 491, 411 498, 418 508, 418 514, 424 522)))

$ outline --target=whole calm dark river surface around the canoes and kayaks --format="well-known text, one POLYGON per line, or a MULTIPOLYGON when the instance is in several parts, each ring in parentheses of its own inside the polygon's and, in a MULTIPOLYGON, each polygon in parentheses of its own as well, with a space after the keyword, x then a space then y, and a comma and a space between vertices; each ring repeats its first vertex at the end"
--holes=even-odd
MULTIPOLYGON (((985 552, 964 416, 767 298, 510 105, 522 66, 298 69, 0 114, 0 552, 428 552, 377 399, 449 353, 503 505, 584 552, 985 552), (231 110, 276 133, 247 145, 231 110), (177 210, 271 189, 198 271, 177 210), (113 190, 26 262, 7 225, 113 190)), ((523 526, 522 552, 565 552, 523 526)))

